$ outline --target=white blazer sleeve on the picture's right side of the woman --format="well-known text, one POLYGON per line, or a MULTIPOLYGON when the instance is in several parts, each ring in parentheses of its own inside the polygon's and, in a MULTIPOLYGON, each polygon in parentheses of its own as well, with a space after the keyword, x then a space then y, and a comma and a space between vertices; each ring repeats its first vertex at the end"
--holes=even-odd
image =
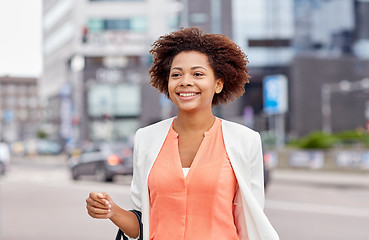
POLYGON ((253 144, 250 150, 251 160, 251 191, 260 207, 264 209, 264 170, 261 138, 258 132, 254 132, 253 144))

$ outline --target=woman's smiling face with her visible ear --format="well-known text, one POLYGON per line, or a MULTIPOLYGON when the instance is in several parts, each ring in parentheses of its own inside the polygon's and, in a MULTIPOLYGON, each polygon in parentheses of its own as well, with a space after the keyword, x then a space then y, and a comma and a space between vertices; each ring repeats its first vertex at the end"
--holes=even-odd
POLYGON ((210 110, 215 93, 223 82, 215 79, 208 57, 199 52, 181 52, 170 67, 168 91, 178 111, 210 110))

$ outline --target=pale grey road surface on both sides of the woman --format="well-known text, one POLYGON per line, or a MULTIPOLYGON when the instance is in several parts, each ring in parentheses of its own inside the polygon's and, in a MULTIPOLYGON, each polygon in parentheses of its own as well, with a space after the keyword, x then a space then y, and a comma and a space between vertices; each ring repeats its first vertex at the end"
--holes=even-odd
MULTIPOLYGON (((17 162, 0 180, 0 240, 114 239, 109 220, 90 218, 85 198, 106 191, 130 207, 130 177, 74 182, 63 162, 17 162)), ((276 170, 265 212, 282 240, 368 240, 369 177, 276 170)))

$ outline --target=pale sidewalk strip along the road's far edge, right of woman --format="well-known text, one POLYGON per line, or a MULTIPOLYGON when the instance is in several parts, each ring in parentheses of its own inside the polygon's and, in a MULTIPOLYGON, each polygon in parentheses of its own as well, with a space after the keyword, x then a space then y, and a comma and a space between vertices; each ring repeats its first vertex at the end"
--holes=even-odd
POLYGON ((338 187, 360 187, 369 189, 369 174, 354 172, 331 172, 302 169, 273 169, 271 181, 291 184, 327 184, 338 187))

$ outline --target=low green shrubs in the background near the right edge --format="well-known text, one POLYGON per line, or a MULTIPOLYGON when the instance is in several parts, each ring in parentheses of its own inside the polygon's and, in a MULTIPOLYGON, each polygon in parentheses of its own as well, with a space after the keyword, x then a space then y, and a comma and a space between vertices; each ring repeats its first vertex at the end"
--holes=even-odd
POLYGON ((305 149, 328 149, 337 145, 351 146, 355 144, 369 147, 369 134, 360 130, 348 130, 336 134, 314 131, 303 138, 291 140, 287 145, 305 149))

